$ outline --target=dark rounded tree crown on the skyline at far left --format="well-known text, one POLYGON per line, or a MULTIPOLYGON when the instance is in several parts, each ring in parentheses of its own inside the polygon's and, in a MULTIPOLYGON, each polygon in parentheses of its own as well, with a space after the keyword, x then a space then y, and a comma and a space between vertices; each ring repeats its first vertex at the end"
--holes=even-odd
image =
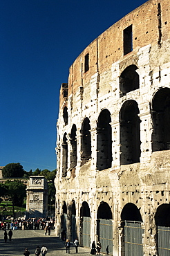
POLYGON ((22 178, 24 174, 23 167, 20 163, 8 163, 2 169, 2 176, 6 178, 22 178))

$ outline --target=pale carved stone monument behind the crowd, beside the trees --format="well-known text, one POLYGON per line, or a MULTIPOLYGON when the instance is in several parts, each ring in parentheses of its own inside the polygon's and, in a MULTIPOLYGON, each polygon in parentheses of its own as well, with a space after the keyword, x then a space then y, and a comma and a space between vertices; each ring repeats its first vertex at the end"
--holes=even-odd
POLYGON ((48 184, 44 176, 30 176, 26 188, 26 217, 47 217, 48 184))

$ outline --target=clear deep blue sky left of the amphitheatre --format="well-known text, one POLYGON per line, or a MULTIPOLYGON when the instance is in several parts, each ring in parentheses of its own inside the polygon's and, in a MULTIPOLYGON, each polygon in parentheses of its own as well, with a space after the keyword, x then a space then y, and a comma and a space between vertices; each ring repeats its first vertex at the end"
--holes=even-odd
POLYGON ((0 1, 0 166, 56 168, 59 89, 93 39, 145 0, 0 1))

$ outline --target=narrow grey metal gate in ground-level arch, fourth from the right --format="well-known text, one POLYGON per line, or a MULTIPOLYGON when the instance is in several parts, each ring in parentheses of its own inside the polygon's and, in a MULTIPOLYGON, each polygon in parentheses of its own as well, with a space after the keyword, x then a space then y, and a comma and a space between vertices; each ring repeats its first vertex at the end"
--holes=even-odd
POLYGON ((83 217, 82 246, 91 247, 91 217, 83 217))

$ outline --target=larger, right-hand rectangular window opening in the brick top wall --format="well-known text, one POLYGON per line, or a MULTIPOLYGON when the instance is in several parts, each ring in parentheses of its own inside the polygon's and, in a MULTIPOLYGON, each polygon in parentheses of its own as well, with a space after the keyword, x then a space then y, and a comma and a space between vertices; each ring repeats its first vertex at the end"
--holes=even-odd
POLYGON ((132 25, 124 29, 124 55, 133 51, 132 25))

